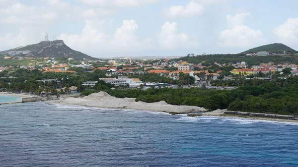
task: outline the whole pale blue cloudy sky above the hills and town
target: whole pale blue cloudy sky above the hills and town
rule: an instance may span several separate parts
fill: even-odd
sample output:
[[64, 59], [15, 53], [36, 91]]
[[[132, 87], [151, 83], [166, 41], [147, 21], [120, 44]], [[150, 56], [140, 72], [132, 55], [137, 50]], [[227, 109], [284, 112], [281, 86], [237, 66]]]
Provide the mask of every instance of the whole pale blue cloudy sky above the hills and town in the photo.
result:
[[93, 57], [298, 50], [298, 0], [0, 0], [0, 51], [64, 40]]

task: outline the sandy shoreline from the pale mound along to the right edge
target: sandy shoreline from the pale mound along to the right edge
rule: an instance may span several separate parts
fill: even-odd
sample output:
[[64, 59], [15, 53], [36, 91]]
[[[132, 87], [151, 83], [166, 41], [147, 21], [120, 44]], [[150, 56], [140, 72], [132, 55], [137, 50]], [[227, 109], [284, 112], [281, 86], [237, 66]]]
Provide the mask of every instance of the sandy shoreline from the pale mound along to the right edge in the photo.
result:
[[[170, 114], [187, 114], [187, 116], [216, 116], [216, 117], [237, 117], [245, 119], [255, 120], [268, 120], [268, 121], [279, 121], [279, 122], [298, 122], [296, 119], [289, 119], [293, 115], [279, 115], [279, 114], [264, 114], [264, 113], [251, 113], [250, 112], [235, 112], [226, 110], [216, 110], [206, 112], [204, 108], [195, 106], [174, 106], [165, 103], [164, 101], [157, 103], [145, 103], [135, 102], [134, 98], [116, 98], [112, 97], [106, 92], [94, 93], [84, 98], [61, 98], [60, 100], [51, 101], [47, 104], [60, 104], [60, 105], [76, 105], [85, 107], [98, 107], [98, 108], [110, 108], [110, 109], [133, 109], [133, 110], [144, 110], [144, 111], [156, 111], [166, 112]], [[195, 113], [202, 112], [202, 113]], [[226, 113], [225, 113], [226, 112]], [[232, 114], [233, 112], [237, 114]], [[241, 114], [239, 114], [241, 113]], [[264, 117], [261, 115], [269, 115]], [[289, 117], [279, 118], [279, 117]]]

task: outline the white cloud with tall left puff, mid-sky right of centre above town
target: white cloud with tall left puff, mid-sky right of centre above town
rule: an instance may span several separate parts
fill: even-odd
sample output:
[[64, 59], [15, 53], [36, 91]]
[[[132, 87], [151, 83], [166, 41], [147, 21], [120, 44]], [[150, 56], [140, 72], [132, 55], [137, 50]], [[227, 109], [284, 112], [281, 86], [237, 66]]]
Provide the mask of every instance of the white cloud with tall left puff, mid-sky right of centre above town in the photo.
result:
[[158, 34], [158, 44], [163, 49], [192, 48], [197, 47], [199, 43], [194, 37], [186, 33], [177, 33], [178, 26], [176, 22], [165, 22], [161, 26]]

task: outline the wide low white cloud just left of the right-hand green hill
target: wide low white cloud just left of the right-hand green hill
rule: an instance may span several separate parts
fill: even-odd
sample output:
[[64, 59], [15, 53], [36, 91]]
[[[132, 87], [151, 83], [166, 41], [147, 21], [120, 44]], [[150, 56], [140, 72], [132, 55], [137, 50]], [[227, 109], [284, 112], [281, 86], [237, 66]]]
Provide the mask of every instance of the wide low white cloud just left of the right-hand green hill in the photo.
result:
[[219, 36], [220, 47], [248, 48], [267, 43], [261, 30], [255, 30], [244, 25], [237, 25], [231, 29], [225, 29]]

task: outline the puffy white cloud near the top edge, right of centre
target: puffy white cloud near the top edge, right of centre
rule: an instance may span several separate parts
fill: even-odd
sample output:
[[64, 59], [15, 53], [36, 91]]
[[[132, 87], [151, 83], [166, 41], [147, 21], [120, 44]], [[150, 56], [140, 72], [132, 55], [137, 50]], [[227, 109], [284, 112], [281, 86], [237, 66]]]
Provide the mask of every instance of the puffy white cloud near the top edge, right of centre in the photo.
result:
[[166, 17], [193, 17], [202, 15], [204, 6], [194, 0], [189, 1], [185, 6], [173, 5], [163, 11]]

